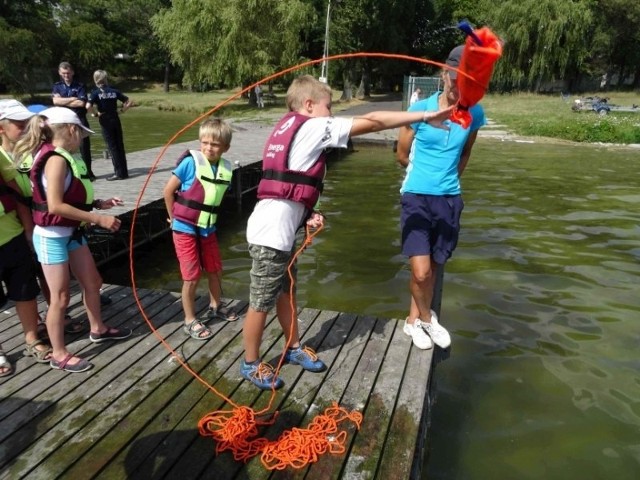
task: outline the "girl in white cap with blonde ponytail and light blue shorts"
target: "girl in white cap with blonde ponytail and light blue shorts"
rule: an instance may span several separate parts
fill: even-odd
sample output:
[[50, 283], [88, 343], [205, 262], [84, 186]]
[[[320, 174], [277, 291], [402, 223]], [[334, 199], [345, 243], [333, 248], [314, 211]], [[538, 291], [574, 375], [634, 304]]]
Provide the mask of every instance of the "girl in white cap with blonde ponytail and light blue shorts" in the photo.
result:
[[16, 158], [35, 152], [31, 169], [33, 185], [33, 245], [42, 264], [51, 291], [47, 311], [47, 331], [53, 347], [51, 367], [68, 372], [83, 372], [92, 367], [87, 360], [70, 353], [64, 342], [64, 316], [69, 305], [70, 272], [80, 282], [83, 301], [91, 325], [89, 338], [94, 343], [120, 340], [130, 329], [109, 328], [100, 313], [102, 278], [84, 236], [83, 225], [94, 223], [110, 232], [120, 228], [120, 220], [99, 215], [122, 205], [117, 197], [94, 200], [87, 167], [79, 155], [80, 144], [93, 133], [82, 125], [68, 108], [48, 108], [29, 122], [25, 136], [16, 145]]

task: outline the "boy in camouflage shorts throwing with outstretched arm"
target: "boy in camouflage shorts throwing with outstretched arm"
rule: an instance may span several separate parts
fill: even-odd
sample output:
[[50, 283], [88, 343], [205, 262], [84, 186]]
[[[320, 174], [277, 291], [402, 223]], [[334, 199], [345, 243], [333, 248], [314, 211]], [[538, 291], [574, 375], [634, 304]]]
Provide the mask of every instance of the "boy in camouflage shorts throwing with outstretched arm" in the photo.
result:
[[[442, 127], [442, 121], [452, 111], [449, 108], [438, 112], [371, 112], [354, 118], [332, 117], [331, 89], [310, 75], [292, 82], [287, 91], [287, 107], [289, 113], [267, 140], [259, 202], [247, 225], [252, 267], [240, 374], [264, 390], [284, 385], [273, 367], [261, 361], [259, 352], [267, 312], [274, 305], [289, 346], [285, 362], [312, 372], [326, 368], [311, 348], [300, 344], [297, 322], [292, 322], [297, 307], [295, 297], [290, 298], [287, 275], [298, 229], [304, 224], [311, 228], [324, 224], [324, 217], [314, 211], [314, 205], [322, 192], [325, 149], [347, 148], [350, 137], [418, 121]], [[295, 270], [293, 273], [295, 277]]]

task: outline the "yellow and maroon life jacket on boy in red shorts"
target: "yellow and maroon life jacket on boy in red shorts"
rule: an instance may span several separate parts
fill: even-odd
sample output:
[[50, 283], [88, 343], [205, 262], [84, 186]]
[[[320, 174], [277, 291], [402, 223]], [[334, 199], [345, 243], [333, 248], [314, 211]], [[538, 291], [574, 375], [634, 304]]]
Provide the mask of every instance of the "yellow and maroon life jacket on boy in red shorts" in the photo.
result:
[[171, 209], [174, 218], [190, 225], [208, 228], [216, 224], [218, 210], [233, 175], [231, 163], [221, 158], [218, 161], [215, 178], [211, 178], [211, 165], [202, 152], [186, 151], [176, 165], [186, 157], [192, 157], [195, 164], [195, 178], [184, 192], [176, 192]]

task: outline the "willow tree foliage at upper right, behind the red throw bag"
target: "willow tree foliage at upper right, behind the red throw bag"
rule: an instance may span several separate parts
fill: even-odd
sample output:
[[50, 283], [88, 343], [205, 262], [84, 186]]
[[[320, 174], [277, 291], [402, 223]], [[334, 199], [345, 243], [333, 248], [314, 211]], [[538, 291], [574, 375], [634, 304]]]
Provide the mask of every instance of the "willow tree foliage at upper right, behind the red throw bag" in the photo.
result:
[[543, 81], [578, 70], [589, 54], [590, 0], [509, 0], [493, 10], [492, 27], [505, 39], [494, 81], [538, 91]]

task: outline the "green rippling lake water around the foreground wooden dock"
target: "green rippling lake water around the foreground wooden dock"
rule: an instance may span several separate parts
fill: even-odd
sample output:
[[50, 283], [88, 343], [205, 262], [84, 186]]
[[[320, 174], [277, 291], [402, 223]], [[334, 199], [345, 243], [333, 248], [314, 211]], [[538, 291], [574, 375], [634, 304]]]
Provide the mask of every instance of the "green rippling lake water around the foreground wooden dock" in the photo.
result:
[[[479, 140], [446, 267], [429, 479], [638, 478], [639, 171], [629, 149]], [[402, 176], [388, 149], [331, 165], [300, 306], [406, 316]], [[229, 298], [248, 298], [247, 215], [220, 228]], [[138, 286], [180, 289], [170, 241], [139, 264]]]

